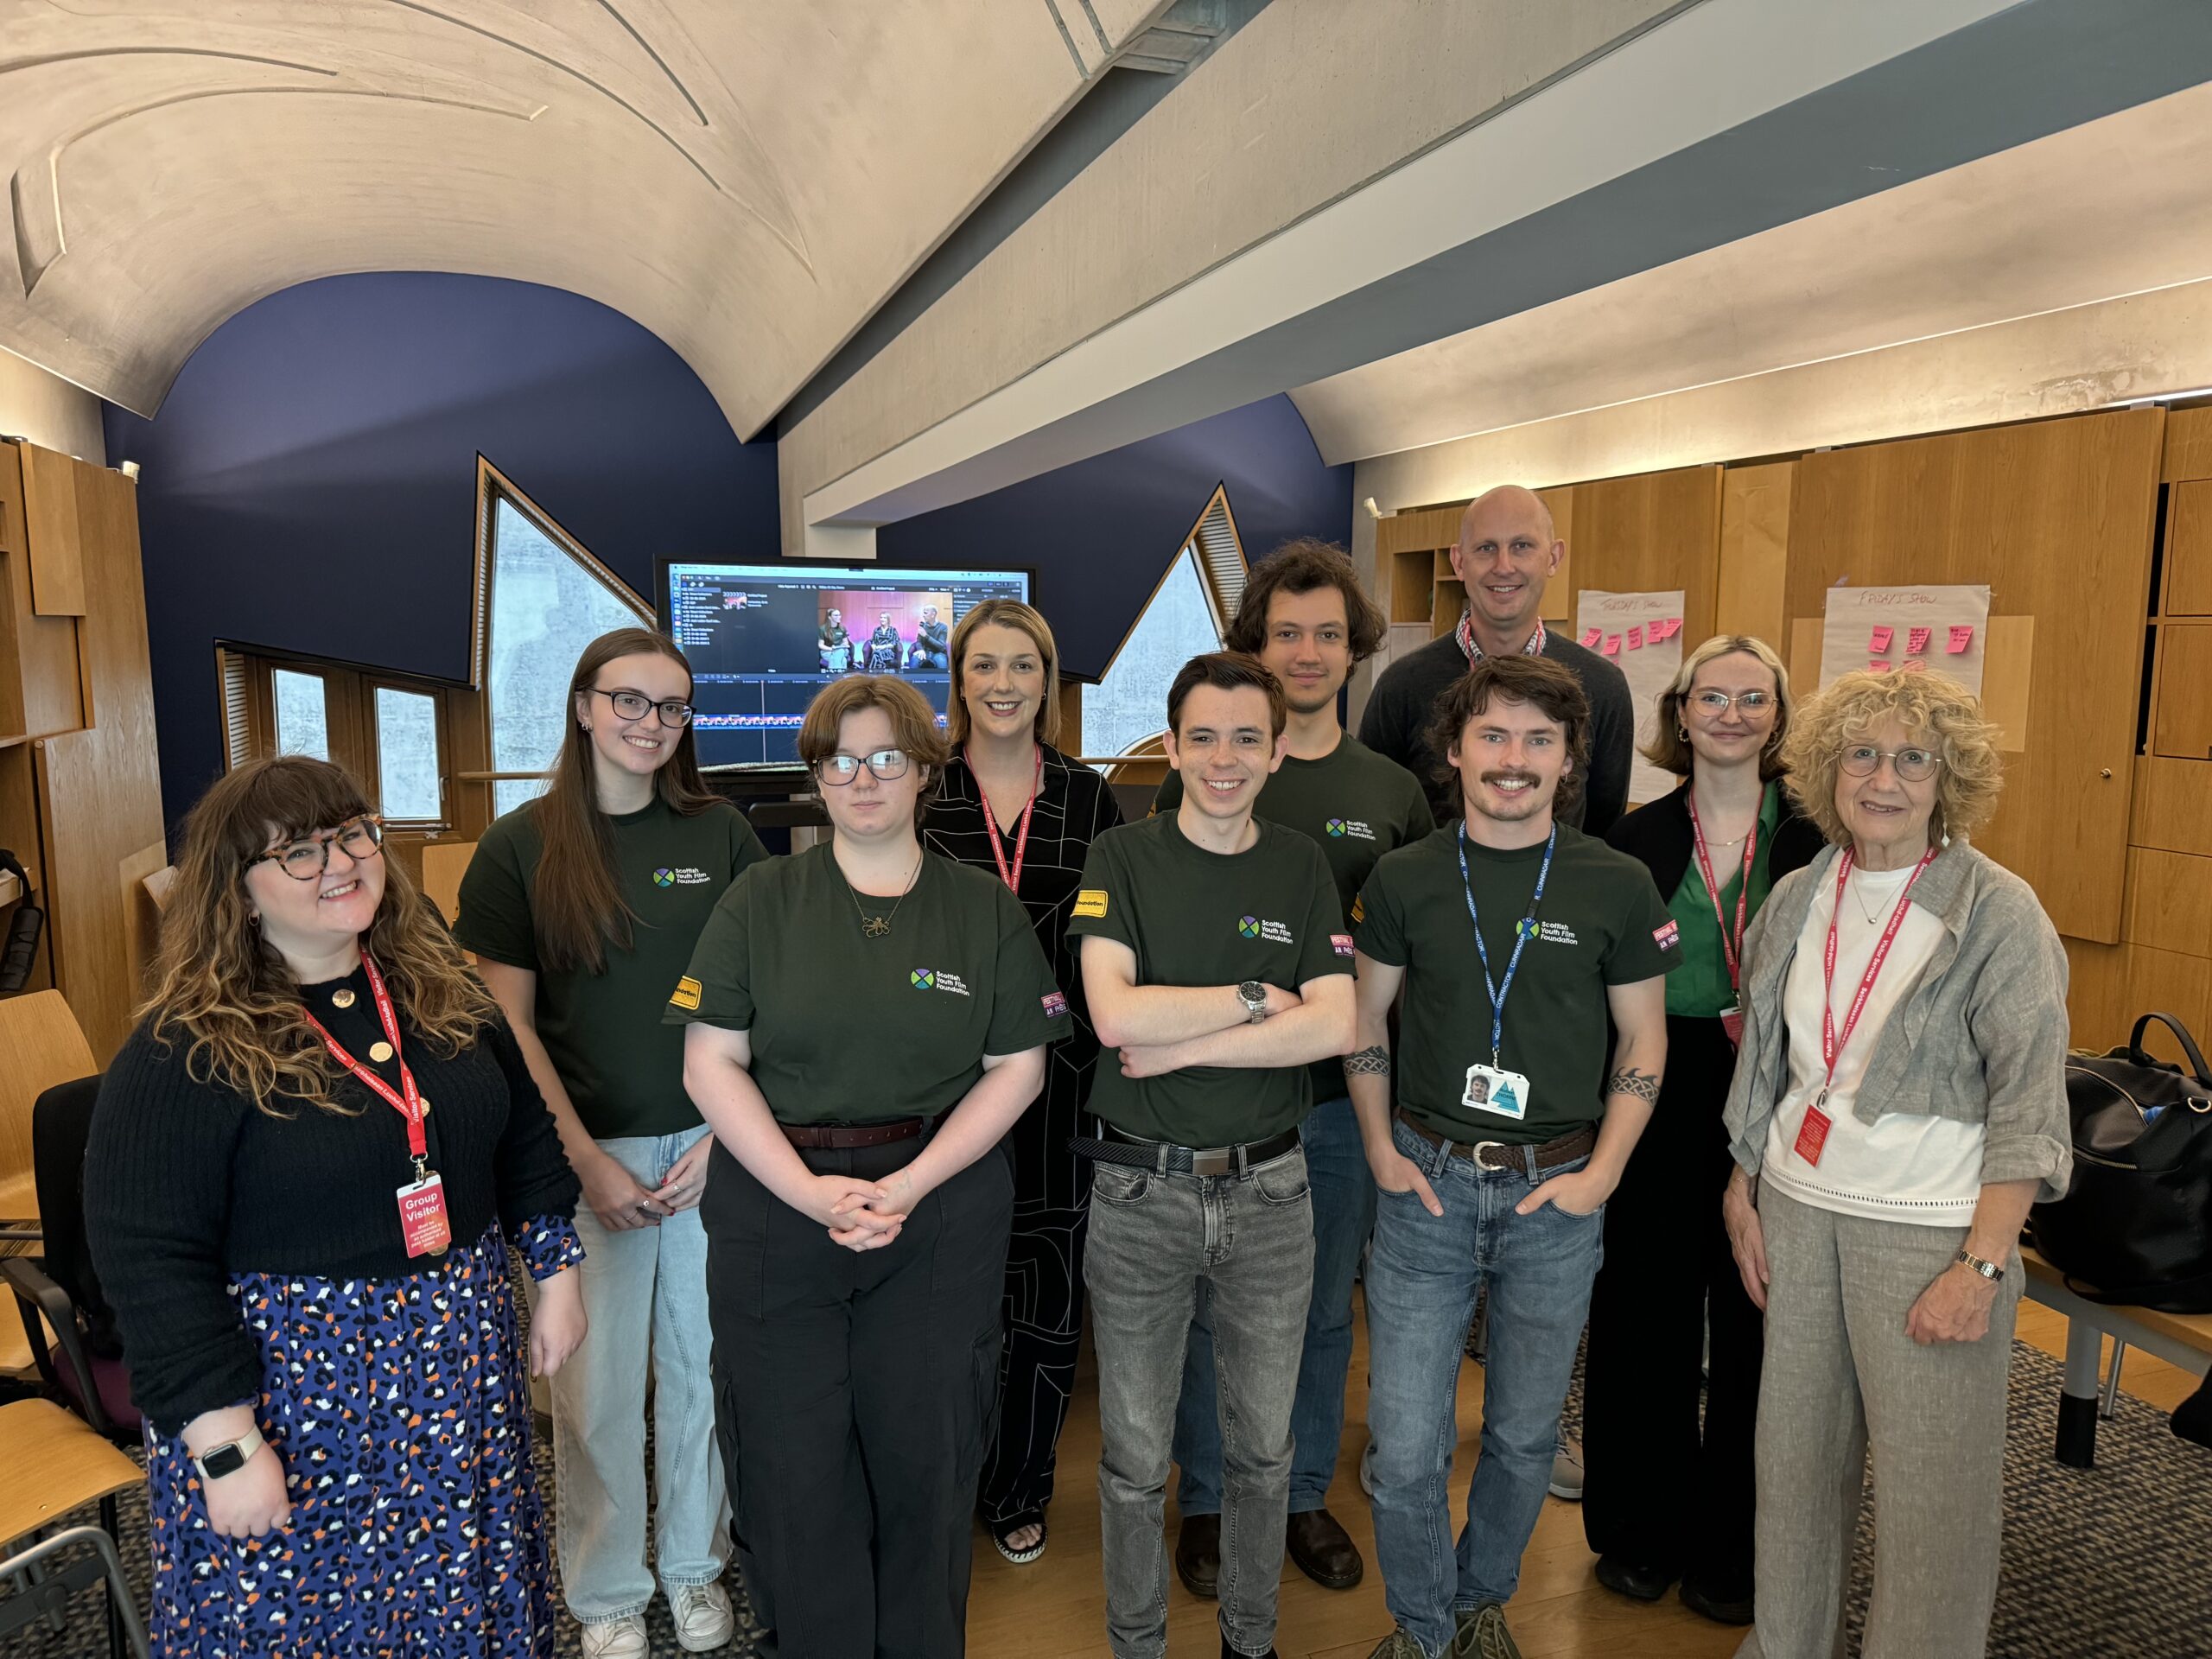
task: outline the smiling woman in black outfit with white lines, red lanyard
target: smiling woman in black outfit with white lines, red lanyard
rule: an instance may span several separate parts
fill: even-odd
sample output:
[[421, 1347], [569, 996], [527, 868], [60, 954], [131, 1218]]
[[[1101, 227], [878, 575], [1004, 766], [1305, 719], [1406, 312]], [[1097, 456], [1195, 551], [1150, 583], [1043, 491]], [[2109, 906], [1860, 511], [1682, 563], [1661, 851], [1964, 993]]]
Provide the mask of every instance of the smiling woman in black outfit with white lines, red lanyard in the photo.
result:
[[1022, 900], [1071, 1013], [1068, 1040], [1046, 1062], [1044, 1093], [1009, 1139], [1006, 1349], [998, 1433], [978, 1493], [1000, 1555], [1033, 1562], [1044, 1553], [1055, 1449], [1075, 1394], [1091, 1230], [1091, 1161], [1068, 1141], [1088, 1133], [1084, 1102], [1099, 1040], [1068, 949], [1068, 916], [1091, 843], [1121, 823], [1121, 807], [1102, 774], [1053, 748], [1060, 650], [1042, 615], [1020, 599], [984, 599], [960, 617], [949, 650], [951, 759], [922, 838]]

